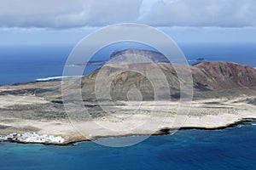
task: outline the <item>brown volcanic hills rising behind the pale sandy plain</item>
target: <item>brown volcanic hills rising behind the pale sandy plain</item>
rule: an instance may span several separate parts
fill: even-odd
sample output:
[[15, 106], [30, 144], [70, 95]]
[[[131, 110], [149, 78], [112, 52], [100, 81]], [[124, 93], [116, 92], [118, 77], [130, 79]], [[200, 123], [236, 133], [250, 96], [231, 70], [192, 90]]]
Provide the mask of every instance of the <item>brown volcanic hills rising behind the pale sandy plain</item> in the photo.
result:
[[[180, 95], [179, 79], [170, 63], [158, 63], [160, 69], [166, 75], [172, 98], [178, 99]], [[106, 75], [111, 77], [118, 65], [106, 66]], [[152, 70], [150, 64], [132, 64], [130, 67], [139, 67], [142, 70]], [[183, 65], [175, 65], [176, 69], [183, 69]], [[256, 69], [247, 65], [238, 65], [232, 62], [201, 62], [190, 66], [193, 77], [195, 99], [234, 97], [241, 95], [255, 95]], [[84, 100], [95, 100], [94, 83], [99, 70], [84, 77], [82, 89]], [[157, 78], [158, 75], [153, 77]], [[112, 78], [111, 96], [113, 99], [126, 99], [126, 94], [131, 88], [137, 88], [143, 94], [144, 100], [154, 99], [154, 88], [147, 77], [133, 72], [124, 71]]]

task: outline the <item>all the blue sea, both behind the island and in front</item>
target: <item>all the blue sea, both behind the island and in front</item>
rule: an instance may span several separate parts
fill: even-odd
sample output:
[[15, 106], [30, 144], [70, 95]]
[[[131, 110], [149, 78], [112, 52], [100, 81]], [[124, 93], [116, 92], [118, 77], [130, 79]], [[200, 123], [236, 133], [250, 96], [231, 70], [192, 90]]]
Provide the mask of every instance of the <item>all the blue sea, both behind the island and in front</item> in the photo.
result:
[[[60, 77], [73, 45], [0, 48], [0, 85]], [[102, 50], [107, 59], [116, 47]], [[120, 49], [124, 47], [119, 47]], [[125, 48], [147, 48], [127, 45]], [[256, 67], [256, 44], [180, 44], [187, 59], [229, 60]], [[98, 66], [91, 66], [84, 74]], [[135, 137], [127, 137], [135, 138]], [[256, 169], [256, 126], [183, 130], [140, 144], [110, 148], [93, 142], [76, 146], [0, 143], [0, 169]]]

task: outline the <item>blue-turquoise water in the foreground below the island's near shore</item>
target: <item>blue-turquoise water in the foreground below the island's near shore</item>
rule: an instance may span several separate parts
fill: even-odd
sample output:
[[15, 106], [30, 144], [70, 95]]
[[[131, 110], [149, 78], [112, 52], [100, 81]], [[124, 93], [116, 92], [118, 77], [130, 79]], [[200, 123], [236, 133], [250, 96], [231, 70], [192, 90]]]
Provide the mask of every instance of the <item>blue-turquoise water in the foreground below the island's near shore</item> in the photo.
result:
[[[131, 137], [127, 137], [131, 138]], [[3, 169], [255, 169], [256, 126], [182, 130], [125, 148], [0, 144]]]

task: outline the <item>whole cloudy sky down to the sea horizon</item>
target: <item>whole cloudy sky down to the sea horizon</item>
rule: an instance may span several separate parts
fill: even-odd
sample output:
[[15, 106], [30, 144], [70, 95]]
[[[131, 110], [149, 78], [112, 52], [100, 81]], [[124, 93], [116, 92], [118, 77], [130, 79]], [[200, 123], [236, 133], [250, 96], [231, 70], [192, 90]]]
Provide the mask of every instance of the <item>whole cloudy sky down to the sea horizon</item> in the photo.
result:
[[255, 0], [3, 0], [0, 43], [77, 42], [127, 22], [177, 41], [255, 42], [255, 16]]

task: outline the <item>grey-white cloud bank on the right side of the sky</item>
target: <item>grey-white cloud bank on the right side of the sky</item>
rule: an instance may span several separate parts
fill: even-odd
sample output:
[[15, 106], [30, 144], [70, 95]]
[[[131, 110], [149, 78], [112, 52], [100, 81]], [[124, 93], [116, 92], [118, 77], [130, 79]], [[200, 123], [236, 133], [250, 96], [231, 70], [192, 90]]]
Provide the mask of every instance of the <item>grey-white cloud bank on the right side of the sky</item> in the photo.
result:
[[153, 26], [256, 26], [255, 0], [159, 0], [141, 21]]

